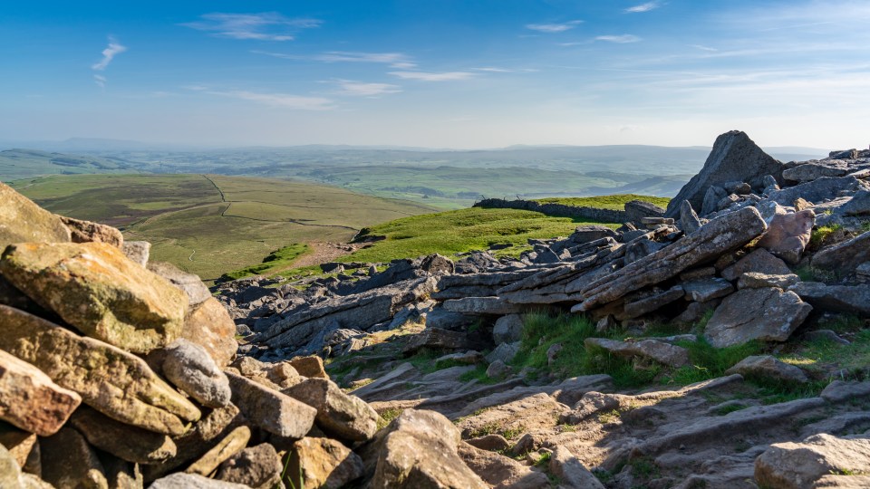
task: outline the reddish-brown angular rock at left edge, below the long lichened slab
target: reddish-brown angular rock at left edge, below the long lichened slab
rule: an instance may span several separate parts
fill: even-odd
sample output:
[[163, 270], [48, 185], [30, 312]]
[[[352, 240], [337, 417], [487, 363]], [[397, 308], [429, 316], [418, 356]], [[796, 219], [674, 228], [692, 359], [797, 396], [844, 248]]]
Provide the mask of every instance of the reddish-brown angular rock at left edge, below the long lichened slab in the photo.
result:
[[39, 436], [63, 427], [82, 402], [40, 369], [0, 350], [0, 419]]

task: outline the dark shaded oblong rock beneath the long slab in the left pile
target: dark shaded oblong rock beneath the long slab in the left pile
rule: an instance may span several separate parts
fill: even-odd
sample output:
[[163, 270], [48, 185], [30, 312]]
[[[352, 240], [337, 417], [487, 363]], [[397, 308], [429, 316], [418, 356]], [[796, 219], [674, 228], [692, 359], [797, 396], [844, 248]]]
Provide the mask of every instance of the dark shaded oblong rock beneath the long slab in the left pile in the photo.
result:
[[76, 410], [70, 424], [92, 446], [128, 462], [157, 464], [177, 453], [169, 436], [125, 425], [92, 408]]

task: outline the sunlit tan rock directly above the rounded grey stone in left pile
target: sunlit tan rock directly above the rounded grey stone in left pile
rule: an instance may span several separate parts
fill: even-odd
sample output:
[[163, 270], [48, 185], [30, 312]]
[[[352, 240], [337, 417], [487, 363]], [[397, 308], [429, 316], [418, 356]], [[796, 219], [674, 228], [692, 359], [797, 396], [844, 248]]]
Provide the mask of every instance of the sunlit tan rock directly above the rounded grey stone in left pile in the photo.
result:
[[184, 319], [181, 338], [206, 349], [221, 369], [236, 357], [238, 350], [236, 323], [214, 297], [190, 309]]

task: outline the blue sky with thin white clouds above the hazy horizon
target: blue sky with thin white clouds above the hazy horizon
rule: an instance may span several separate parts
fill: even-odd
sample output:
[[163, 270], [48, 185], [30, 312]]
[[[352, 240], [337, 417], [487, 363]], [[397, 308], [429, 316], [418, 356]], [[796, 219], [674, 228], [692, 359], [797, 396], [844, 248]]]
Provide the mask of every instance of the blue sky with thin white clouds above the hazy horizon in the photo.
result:
[[7, 2], [2, 140], [870, 143], [870, 2]]

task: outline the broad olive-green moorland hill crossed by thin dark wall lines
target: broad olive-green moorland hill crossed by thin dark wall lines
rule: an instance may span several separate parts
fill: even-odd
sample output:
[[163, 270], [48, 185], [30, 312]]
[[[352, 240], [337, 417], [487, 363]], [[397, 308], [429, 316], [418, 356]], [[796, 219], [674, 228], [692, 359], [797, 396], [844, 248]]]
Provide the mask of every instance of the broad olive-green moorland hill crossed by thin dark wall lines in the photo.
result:
[[[89, 175], [12, 182], [52, 212], [150, 241], [154, 260], [204, 280], [291, 245], [347, 242], [364, 226], [433, 209], [308, 182], [210, 175]], [[296, 248], [298, 250], [298, 247]]]

